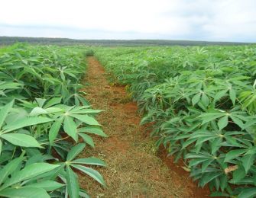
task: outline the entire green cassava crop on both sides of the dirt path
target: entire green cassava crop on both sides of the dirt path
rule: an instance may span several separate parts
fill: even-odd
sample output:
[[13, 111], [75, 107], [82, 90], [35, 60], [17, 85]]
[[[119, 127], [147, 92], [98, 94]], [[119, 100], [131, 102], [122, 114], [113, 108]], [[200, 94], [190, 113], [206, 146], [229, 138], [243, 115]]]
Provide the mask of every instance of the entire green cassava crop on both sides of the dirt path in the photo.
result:
[[93, 54], [109, 85], [125, 85], [137, 102], [157, 147], [200, 187], [256, 196], [256, 46], [18, 43], [0, 48], [1, 197], [89, 197], [80, 175], [106, 186], [96, 171], [105, 162], [79, 158], [95, 146], [92, 136], [107, 137], [95, 118], [101, 110], [81, 91]]

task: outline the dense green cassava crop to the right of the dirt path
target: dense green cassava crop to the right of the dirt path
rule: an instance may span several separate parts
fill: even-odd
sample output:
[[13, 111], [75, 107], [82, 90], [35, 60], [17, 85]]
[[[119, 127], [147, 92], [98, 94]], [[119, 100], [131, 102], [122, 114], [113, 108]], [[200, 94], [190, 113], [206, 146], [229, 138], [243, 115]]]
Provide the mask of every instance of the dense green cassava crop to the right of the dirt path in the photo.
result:
[[212, 196], [256, 196], [256, 47], [96, 48], [151, 135]]

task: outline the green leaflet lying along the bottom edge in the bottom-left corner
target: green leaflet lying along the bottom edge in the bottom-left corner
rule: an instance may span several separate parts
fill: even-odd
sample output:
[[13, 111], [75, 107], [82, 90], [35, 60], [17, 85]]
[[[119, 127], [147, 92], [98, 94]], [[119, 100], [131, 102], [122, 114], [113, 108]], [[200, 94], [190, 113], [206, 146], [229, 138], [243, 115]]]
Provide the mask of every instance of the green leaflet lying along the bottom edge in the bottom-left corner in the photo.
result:
[[5, 190], [0, 190], [0, 196], [10, 198], [50, 198], [46, 190], [38, 187], [10, 187]]

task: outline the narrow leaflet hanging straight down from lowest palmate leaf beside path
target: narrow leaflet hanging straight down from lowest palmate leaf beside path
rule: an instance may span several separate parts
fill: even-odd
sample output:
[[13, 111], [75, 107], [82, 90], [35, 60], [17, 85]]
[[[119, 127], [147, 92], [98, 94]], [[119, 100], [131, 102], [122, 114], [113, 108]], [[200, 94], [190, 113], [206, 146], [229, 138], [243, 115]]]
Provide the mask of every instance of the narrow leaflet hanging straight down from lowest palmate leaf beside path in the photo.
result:
[[66, 189], [70, 198], [79, 197], [78, 177], [74, 171], [72, 171], [70, 166], [66, 167]]

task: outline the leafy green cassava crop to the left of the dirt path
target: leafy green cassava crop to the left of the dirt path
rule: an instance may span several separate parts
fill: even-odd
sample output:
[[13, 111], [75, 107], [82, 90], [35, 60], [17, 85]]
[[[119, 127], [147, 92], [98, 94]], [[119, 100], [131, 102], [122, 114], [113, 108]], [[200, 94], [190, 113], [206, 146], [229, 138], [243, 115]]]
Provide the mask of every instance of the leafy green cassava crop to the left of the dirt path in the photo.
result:
[[86, 48], [30, 46], [0, 48], [0, 196], [88, 197], [77, 173], [105, 181], [77, 158], [91, 135], [105, 136], [79, 91]]

